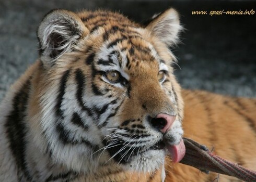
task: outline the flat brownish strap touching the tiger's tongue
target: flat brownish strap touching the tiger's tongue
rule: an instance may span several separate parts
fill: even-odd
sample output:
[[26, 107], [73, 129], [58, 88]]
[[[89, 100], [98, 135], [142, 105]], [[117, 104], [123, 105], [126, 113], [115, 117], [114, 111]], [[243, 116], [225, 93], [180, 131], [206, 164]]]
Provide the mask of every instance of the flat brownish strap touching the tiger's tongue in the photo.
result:
[[208, 174], [209, 171], [212, 171], [234, 176], [244, 181], [256, 181], [255, 171], [247, 170], [245, 167], [214, 155], [207, 147], [192, 139], [183, 138], [183, 140], [186, 147], [186, 153], [180, 163], [196, 167], [206, 174]]

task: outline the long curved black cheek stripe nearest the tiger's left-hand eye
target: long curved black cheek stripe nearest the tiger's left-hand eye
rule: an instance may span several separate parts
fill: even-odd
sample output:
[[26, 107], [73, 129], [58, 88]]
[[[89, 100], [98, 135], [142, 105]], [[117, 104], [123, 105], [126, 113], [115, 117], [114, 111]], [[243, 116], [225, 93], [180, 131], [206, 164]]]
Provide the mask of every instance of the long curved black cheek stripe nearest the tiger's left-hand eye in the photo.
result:
[[92, 116], [91, 110], [84, 105], [84, 101], [83, 101], [83, 93], [86, 92], [85, 90], [86, 77], [83, 74], [82, 70], [80, 69], [76, 70], [75, 75], [76, 75], [76, 82], [77, 82], [76, 99], [78, 100], [80, 107], [82, 107], [83, 110], [87, 111], [89, 116]]

